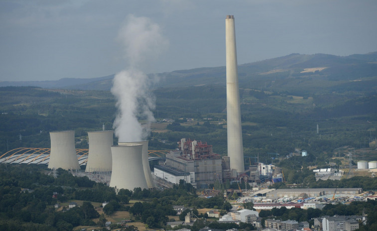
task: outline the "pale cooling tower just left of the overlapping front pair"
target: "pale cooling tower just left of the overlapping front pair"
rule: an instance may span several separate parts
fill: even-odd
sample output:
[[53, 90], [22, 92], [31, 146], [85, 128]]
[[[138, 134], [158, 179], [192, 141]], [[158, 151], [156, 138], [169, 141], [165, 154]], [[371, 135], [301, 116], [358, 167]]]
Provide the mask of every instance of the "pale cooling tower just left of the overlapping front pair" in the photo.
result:
[[114, 131], [88, 132], [89, 155], [85, 172], [108, 172], [112, 170], [111, 146]]

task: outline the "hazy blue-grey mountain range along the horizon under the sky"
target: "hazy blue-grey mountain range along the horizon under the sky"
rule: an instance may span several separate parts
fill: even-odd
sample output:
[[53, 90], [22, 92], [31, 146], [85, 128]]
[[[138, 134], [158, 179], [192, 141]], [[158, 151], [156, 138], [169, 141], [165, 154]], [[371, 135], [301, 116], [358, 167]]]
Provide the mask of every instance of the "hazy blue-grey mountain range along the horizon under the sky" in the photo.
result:
[[[225, 66], [221, 66], [176, 70], [150, 75], [160, 78], [157, 87], [180, 87], [203, 84], [225, 85], [225, 73]], [[349, 56], [293, 53], [239, 65], [241, 86], [252, 89], [272, 89], [273, 91], [278, 89], [278, 91], [291, 92], [312, 86], [313, 88], [309, 90], [311, 92], [326, 92], [330, 89], [323, 89], [323, 86], [332, 87], [361, 80], [369, 81], [366, 85], [371, 86], [376, 85], [376, 82], [370, 82], [371, 77], [374, 76], [377, 76], [377, 52]], [[64, 78], [56, 81], [2, 81], [0, 86], [110, 90], [113, 77], [114, 75], [99, 78]], [[346, 87], [349, 87], [349, 85]], [[360, 84], [356, 85], [360, 87]], [[307, 89], [305, 92], [307, 92]]]

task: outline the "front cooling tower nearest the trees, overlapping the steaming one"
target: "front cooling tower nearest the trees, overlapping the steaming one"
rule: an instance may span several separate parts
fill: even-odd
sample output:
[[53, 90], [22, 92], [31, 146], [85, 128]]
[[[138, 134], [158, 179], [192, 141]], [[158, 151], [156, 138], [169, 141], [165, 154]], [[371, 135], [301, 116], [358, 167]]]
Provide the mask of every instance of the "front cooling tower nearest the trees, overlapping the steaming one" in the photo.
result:
[[142, 168], [142, 145], [111, 146], [113, 172], [110, 187], [148, 189]]

